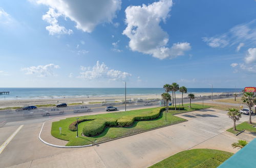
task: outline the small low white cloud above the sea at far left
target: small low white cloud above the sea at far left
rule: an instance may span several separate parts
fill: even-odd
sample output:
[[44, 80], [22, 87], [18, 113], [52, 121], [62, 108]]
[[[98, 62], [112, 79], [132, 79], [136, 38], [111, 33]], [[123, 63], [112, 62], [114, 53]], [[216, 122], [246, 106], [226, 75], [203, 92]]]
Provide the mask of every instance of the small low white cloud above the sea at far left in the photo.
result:
[[22, 68], [22, 71], [26, 71], [25, 74], [27, 75], [35, 74], [39, 77], [45, 77], [45, 76], [56, 76], [56, 74], [53, 73], [53, 70], [58, 68], [60, 68], [58, 65], [48, 64], [48, 65], [38, 65], [38, 66]]

